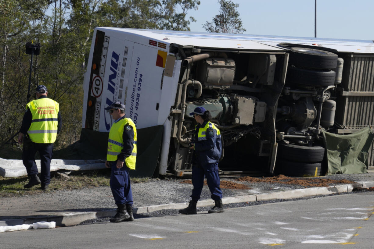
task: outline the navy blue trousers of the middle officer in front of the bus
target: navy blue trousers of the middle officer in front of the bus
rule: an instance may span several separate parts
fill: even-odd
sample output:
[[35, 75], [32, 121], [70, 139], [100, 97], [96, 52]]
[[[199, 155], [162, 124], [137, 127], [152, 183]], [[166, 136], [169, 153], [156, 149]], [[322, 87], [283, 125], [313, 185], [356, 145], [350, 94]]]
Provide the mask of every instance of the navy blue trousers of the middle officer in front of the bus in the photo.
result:
[[129, 168], [126, 163], [123, 163], [123, 167], [120, 169], [117, 169], [116, 165], [117, 161], [112, 162], [109, 182], [114, 201], [117, 205], [132, 205], [134, 202], [132, 201]]

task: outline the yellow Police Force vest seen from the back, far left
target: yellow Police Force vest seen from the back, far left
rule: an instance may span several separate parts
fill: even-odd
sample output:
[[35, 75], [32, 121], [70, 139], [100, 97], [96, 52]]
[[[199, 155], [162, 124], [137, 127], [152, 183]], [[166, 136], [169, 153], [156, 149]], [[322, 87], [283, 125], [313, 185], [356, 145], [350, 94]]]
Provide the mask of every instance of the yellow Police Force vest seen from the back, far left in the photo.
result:
[[31, 141], [49, 144], [56, 141], [59, 104], [53, 99], [41, 98], [27, 103], [33, 115], [27, 133]]

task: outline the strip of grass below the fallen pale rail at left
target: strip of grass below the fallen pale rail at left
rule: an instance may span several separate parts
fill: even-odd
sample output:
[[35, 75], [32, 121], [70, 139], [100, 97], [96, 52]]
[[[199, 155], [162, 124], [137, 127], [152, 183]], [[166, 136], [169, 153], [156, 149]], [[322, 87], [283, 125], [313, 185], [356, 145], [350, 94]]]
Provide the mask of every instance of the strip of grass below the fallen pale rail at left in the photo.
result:
[[[130, 178], [131, 183], [147, 182], [148, 178]], [[109, 187], [110, 169], [93, 170], [89, 172], [74, 172], [64, 177], [57, 172], [51, 172], [51, 179], [47, 191], [40, 190], [40, 185], [30, 189], [24, 188], [27, 176], [3, 177], [0, 176], [0, 197], [19, 197], [33, 194], [48, 193], [61, 190], [76, 190], [82, 188]]]

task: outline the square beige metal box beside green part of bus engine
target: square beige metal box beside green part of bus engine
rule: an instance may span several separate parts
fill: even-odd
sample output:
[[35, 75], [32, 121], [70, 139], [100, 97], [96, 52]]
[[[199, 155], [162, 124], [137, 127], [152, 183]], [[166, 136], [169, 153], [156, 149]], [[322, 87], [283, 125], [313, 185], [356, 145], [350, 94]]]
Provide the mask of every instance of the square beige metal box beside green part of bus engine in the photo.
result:
[[234, 124], [253, 124], [256, 101], [253, 98], [236, 96]]

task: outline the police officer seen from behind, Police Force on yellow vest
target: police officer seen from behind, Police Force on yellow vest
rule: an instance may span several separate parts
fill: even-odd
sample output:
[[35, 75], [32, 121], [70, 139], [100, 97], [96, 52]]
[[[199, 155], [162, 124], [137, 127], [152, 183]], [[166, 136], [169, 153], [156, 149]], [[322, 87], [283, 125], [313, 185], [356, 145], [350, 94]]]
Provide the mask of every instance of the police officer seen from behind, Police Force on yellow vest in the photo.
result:
[[[25, 188], [41, 184], [42, 190], [47, 190], [50, 183], [50, 161], [52, 160], [53, 143], [61, 131], [62, 119], [59, 104], [47, 98], [47, 87], [36, 87], [36, 99], [27, 103], [27, 111], [22, 119], [18, 142], [24, 143], [22, 162], [29, 177]], [[35, 154], [40, 154], [40, 179], [35, 163]]]

